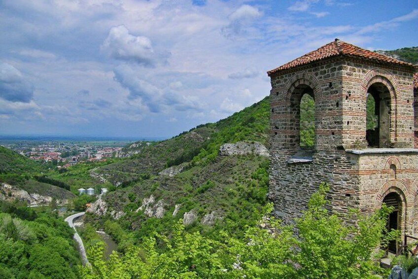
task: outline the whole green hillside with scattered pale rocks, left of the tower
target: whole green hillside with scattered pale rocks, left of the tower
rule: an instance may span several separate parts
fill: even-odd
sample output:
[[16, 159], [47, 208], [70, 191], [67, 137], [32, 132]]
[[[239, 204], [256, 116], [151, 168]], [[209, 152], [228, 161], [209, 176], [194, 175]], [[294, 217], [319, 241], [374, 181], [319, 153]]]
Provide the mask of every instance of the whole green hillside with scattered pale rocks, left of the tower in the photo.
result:
[[[256, 142], [268, 145], [268, 123], [266, 97], [224, 120], [200, 125], [143, 148], [129, 159], [96, 168], [94, 175], [102, 175], [117, 188], [98, 200], [89, 209], [95, 214], [86, 218], [112, 234], [106, 220], [120, 217], [117, 224], [133, 234], [134, 242], [151, 229], [170, 232], [180, 218], [187, 219], [191, 231], [216, 235], [222, 229], [243, 236], [246, 226], [260, 218], [267, 200], [268, 157], [257, 155], [263, 147]], [[250, 152], [219, 154], [222, 145], [237, 142]]]

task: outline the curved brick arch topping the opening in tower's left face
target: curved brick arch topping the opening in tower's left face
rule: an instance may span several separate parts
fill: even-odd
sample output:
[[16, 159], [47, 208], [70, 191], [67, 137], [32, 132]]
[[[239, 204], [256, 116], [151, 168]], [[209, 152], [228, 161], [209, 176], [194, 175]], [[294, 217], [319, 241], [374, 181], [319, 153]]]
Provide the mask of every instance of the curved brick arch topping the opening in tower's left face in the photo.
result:
[[317, 101], [322, 97], [321, 86], [319, 81], [316, 80], [314, 75], [310, 73], [297, 73], [294, 74], [284, 86], [284, 101], [289, 101], [290, 96], [298, 85], [306, 84], [309, 85], [312, 90], [314, 90], [314, 99]]

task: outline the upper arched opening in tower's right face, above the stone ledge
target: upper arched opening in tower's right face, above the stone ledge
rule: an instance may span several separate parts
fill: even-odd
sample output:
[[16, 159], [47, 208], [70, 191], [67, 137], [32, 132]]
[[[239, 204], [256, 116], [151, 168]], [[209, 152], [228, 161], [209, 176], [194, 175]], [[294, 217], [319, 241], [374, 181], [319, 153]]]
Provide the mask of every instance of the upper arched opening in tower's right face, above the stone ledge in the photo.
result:
[[366, 140], [369, 147], [390, 147], [391, 100], [389, 89], [381, 82], [367, 90]]

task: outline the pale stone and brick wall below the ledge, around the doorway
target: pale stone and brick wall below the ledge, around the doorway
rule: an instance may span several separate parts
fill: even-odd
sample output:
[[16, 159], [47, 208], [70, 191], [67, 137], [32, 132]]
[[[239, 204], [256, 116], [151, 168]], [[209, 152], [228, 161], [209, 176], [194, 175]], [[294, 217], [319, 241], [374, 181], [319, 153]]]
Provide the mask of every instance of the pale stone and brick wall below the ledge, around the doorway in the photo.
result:
[[353, 159], [351, 173], [359, 177], [361, 212], [374, 212], [387, 194], [396, 192], [402, 200], [400, 228], [418, 235], [418, 154], [365, 154]]

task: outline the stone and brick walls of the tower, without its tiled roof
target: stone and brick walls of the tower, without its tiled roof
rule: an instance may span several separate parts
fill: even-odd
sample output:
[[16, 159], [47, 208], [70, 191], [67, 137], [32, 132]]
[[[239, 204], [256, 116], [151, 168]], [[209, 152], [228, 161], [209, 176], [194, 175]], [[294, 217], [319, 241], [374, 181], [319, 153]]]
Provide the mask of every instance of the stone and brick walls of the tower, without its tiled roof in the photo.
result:
[[[367, 147], [366, 98], [368, 88], [375, 82], [383, 83], [391, 94], [390, 147], [413, 148], [412, 73], [340, 57], [271, 76], [269, 198], [274, 201], [275, 215], [285, 224], [301, 215], [321, 182], [330, 184], [328, 198], [332, 209], [340, 213], [347, 213], [349, 208], [375, 210], [383, 200], [380, 204], [376, 201], [377, 193], [391, 185], [391, 181], [417, 187], [411, 181], [417, 177], [418, 156], [347, 152]], [[300, 152], [299, 113], [295, 109], [304, 93], [315, 101], [315, 145], [310, 156]], [[292, 160], [301, 154], [307, 158]], [[393, 173], [383, 169], [390, 157], [403, 161], [405, 166], [405, 170], [397, 170], [395, 180], [390, 178]], [[411, 191], [417, 193], [415, 188]], [[409, 212], [405, 219], [408, 232], [413, 231], [417, 215], [410, 201], [416, 202], [415, 194], [411, 197], [405, 211]]]

